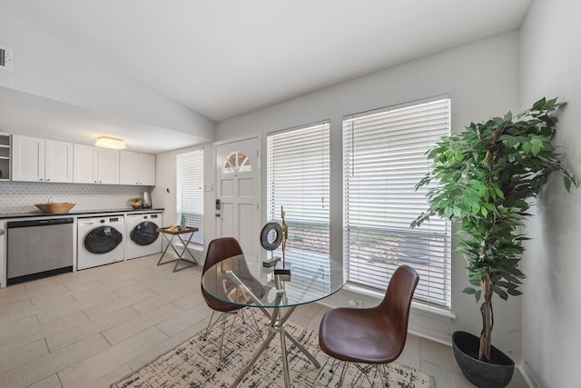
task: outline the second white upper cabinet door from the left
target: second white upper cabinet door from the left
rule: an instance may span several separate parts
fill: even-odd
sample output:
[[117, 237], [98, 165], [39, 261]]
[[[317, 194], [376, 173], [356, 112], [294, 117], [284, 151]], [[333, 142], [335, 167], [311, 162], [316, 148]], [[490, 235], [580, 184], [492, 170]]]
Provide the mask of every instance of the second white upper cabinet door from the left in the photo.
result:
[[45, 140], [44, 152], [44, 180], [73, 182], [73, 144]]

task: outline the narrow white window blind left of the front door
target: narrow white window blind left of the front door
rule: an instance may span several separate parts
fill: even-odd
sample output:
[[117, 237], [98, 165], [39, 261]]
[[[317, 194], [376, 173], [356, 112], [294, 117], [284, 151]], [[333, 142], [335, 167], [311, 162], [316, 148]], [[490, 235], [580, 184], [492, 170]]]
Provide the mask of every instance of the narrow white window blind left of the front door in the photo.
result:
[[203, 244], [203, 149], [176, 156], [176, 224], [199, 229], [192, 243]]

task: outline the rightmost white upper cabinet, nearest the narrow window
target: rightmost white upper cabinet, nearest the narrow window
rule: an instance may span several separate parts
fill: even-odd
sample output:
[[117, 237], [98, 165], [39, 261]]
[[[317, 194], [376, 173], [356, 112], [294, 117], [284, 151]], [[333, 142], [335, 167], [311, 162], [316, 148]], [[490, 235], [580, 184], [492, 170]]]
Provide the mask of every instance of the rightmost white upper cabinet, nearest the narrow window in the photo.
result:
[[155, 155], [121, 151], [120, 184], [155, 185]]

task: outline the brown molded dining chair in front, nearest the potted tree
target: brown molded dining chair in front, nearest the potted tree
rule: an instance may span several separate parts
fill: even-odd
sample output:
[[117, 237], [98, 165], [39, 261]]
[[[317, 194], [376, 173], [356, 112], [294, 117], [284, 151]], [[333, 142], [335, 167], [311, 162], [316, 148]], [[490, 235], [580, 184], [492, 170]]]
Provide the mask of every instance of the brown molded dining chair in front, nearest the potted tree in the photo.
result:
[[[391, 276], [388, 290], [381, 303], [371, 308], [340, 307], [323, 315], [319, 327], [320, 349], [344, 362], [339, 386], [343, 383], [348, 363], [354, 363], [360, 373], [354, 382], [369, 372], [379, 373], [382, 383], [388, 384], [388, 363], [403, 351], [408, 334], [409, 307], [419, 282], [419, 274], [409, 265], [401, 265]], [[367, 364], [365, 367], [359, 363]]]

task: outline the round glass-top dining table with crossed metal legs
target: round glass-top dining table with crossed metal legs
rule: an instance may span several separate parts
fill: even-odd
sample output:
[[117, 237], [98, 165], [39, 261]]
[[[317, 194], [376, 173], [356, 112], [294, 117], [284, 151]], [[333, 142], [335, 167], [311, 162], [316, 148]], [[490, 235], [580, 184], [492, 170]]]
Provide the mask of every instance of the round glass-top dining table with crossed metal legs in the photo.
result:
[[[278, 254], [281, 256], [281, 254]], [[287, 339], [317, 368], [320, 363], [285, 329], [291, 314], [301, 304], [313, 303], [338, 292], [347, 281], [345, 267], [326, 254], [287, 250], [285, 264], [291, 274], [277, 274], [277, 254], [261, 251], [239, 254], [213, 265], [202, 276], [202, 287], [223, 302], [259, 308], [270, 319], [269, 333], [261, 347], [237, 376], [232, 387], [241, 382], [261, 353], [277, 336], [281, 341], [284, 386], [289, 387]], [[278, 263], [281, 265], [281, 262]]]

